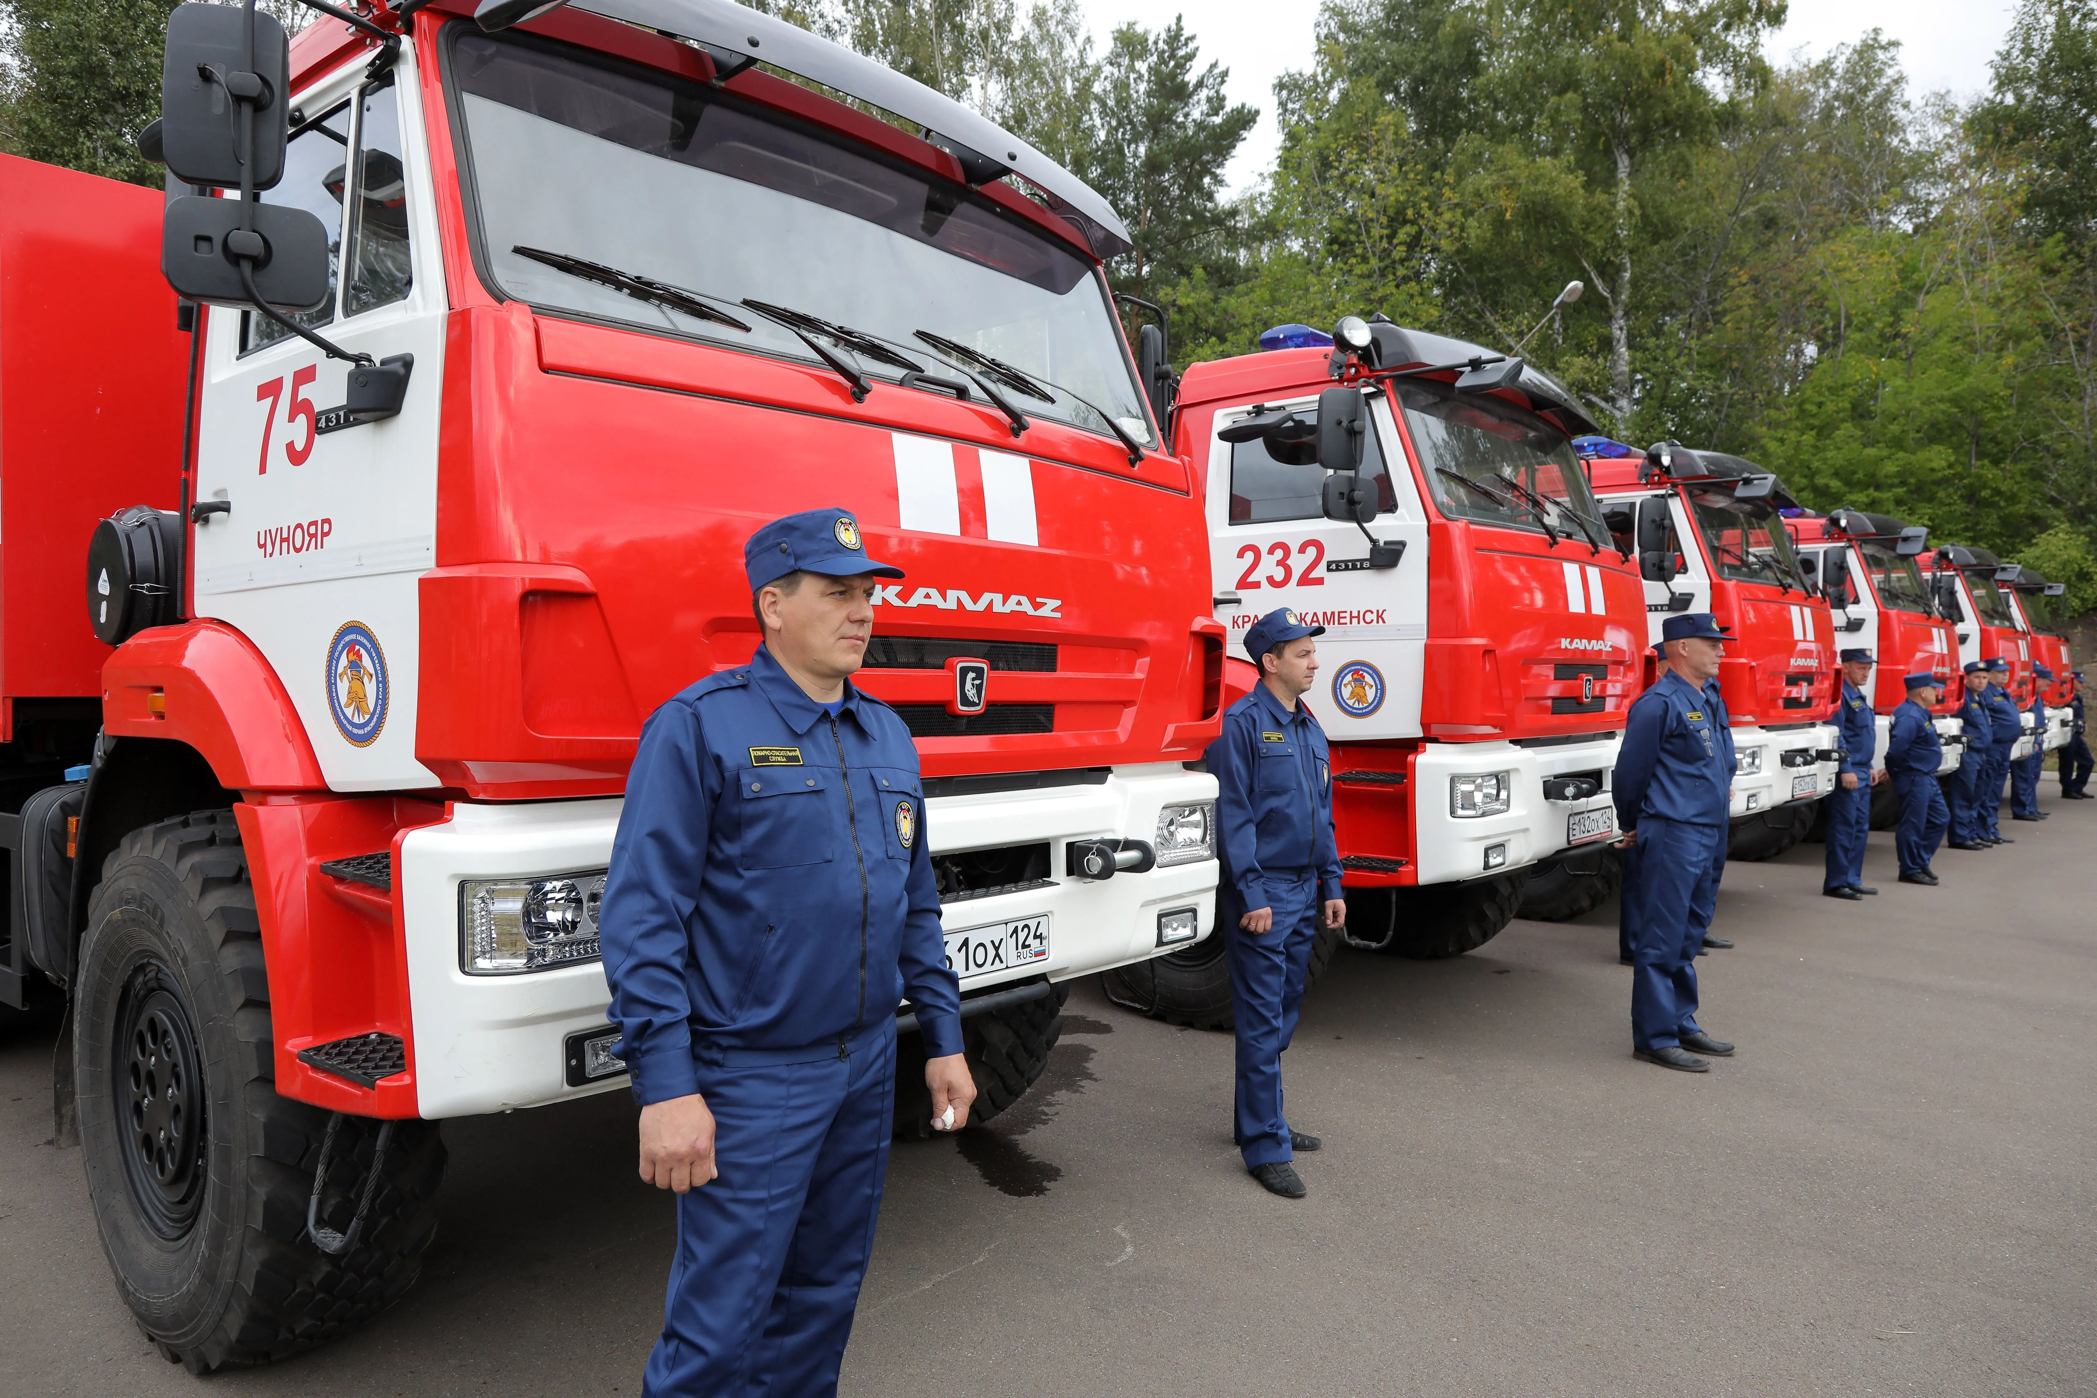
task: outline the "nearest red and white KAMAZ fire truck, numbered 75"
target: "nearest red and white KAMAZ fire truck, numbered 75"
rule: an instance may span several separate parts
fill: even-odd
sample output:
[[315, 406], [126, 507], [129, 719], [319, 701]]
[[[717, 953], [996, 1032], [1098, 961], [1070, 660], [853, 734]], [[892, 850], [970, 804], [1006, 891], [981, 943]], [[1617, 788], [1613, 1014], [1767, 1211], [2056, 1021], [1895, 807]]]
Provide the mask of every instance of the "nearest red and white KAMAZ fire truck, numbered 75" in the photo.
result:
[[862, 681], [918, 738], [979, 1115], [1072, 977], [1208, 929], [1227, 639], [1126, 233], [1032, 147], [728, 0], [289, 54], [250, 15], [174, 10], [143, 143], [229, 197], [0, 157], [0, 996], [67, 998], [105, 1251], [197, 1371], [413, 1281], [440, 1119], [625, 1086], [621, 790], [751, 656], [757, 524], [847, 505], [910, 574]]

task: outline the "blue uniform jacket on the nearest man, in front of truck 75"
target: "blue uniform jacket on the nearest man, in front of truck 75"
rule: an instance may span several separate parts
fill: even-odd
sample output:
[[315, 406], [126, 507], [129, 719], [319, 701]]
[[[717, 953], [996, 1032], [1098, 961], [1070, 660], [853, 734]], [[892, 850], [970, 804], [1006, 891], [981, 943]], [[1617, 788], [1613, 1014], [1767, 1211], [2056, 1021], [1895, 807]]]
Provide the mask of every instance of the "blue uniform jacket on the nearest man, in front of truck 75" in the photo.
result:
[[904, 996], [960, 1052], [910, 731], [851, 683], [833, 719], [761, 648], [642, 729], [598, 924], [642, 1105], [698, 1090], [694, 1050], [843, 1052]]

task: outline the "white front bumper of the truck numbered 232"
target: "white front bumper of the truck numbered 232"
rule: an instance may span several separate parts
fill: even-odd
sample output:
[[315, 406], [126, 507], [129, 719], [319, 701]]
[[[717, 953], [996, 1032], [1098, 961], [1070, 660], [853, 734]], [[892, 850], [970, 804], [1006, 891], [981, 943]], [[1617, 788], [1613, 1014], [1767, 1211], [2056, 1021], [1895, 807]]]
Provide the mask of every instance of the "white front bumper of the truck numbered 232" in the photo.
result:
[[[1420, 859], [1420, 882], [1457, 882], [1483, 878], [1548, 859], [1566, 849], [1573, 815], [1610, 811], [1608, 830], [1617, 817], [1610, 807], [1610, 771], [1617, 765], [1619, 734], [1596, 734], [1581, 742], [1552, 746], [1516, 746], [1512, 742], [1430, 742], [1413, 761], [1413, 853]], [[1512, 799], [1504, 815], [1457, 820], [1449, 813], [1449, 780], [1460, 773], [1506, 771]], [[1543, 794], [1548, 778], [1598, 773], [1602, 788], [1581, 801], [1552, 801]], [[1604, 843], [1592, 836], [1585, 843]], [[1504, 847], [1501, 861], [1489, 861]]]

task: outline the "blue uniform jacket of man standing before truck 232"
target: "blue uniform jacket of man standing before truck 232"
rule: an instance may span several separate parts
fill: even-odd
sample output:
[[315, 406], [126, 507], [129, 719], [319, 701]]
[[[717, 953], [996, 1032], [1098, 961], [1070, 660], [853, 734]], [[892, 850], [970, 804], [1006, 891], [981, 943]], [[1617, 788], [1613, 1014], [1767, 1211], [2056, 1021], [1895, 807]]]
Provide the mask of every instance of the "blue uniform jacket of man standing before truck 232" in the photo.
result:
[[1340, 843], [1332, 834], [1332, 748], [1325, 729], [1260, 683], [1223, 715], [1208, 746], [1223, 836], [1223, 876], [1246, 910], [1271, 908], [1267, 870], [1311, 870], [1321, 899], [1340, 897]]

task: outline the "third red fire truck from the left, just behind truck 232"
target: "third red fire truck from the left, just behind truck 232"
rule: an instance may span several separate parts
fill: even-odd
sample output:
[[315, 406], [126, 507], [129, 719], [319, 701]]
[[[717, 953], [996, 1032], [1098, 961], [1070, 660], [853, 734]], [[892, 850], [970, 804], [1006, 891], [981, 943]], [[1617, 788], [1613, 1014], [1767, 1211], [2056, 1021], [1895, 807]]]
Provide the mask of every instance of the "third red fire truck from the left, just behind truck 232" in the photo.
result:
[[1791, 849], [1841, 761], [1829, 604], [1785, 528], [1797, 501], [1753, 461], [1678, 442], [1640, 453], [1590, 440], [1581, 455], [1610, 530], [1638, 553], [1650, 641], [1676, 612], [1713, 612], [1732, 629], [1720, 664], [1738, 755], [1732, 855]]

